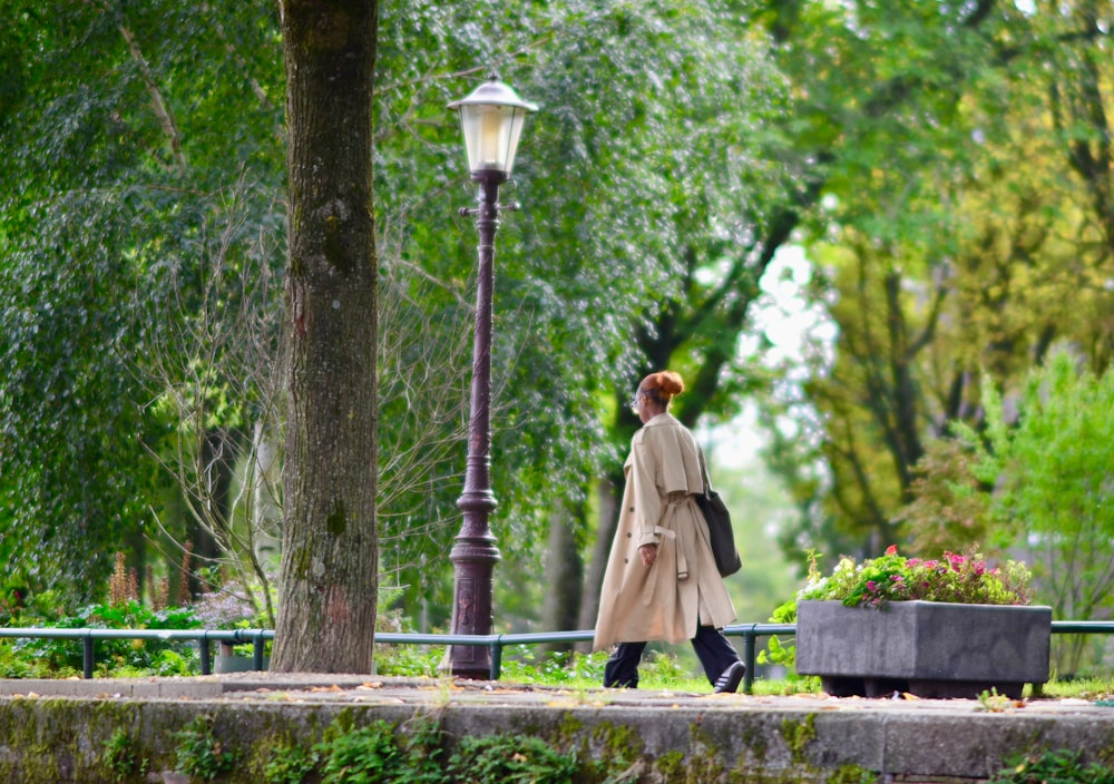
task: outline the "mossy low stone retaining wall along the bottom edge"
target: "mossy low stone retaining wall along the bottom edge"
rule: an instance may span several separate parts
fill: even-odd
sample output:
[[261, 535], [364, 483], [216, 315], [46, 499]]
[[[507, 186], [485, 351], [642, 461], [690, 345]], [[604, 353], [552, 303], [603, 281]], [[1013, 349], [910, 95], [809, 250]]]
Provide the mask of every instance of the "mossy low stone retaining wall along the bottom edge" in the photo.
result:
[[[106, 744], [125, 731], [150, 763], [148, 781], [185, 782], [172, 772], [177, 733], [197, 716], [237, 764], [217, 781], [261, 782], [277, 746], [311, 746], [330, 726], [402, 723], [436, 716], [449, 743], [491, 734], [528, 734], [580, 758], [629, 762], [634, 782], [977, 782], [1012, 755], [1039, 748], [1082, 749], [1114, 762], [1114, 710], [980, 713], [879, 700], [765, 702], [760, 698], [649, 705], [593, 703], [564, 696], [529, 704], [453, 704], [451, 695], [423, 704], [315, 700], [286, 694], [253, 699], [118, 699], [0, 697], [0, 781], [23, 784], [113, 782], [101, 762]], [[883, 700], [885, 702], [885, 700]], [[941, 703], [942, 704], [942, 703]], [[633, 762], [631, 762], [633, 761]], [[624, 763], [626, 764], [626, 763]]]

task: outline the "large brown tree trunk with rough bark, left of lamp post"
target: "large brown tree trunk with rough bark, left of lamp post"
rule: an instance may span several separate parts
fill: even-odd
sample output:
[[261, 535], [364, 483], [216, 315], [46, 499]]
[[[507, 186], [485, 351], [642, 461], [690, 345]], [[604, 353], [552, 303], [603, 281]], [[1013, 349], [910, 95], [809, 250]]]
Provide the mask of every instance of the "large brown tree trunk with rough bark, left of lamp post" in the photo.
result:
[[282, 0], [290, 126], [283, 553], [272, 668], [370, 673], [375, 0]]

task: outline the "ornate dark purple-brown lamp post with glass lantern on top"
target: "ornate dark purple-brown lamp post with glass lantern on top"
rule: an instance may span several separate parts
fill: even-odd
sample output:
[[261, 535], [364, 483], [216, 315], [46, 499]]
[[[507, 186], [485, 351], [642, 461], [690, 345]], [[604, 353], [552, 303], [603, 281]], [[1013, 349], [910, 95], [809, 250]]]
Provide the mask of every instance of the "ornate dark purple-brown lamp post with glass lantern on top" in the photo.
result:
[[[491, 492], [491, 295], [494, 286], [495, 233], [499, 210], [516, 205], [499, 204], [499, 185], [510, 177], [515, 151], [526, 115], [537, 106], [519, 98], [492, 76], [467, 98], [449, 104], [460, 112], [468, 149], [468, 168], [479, 183], [480, 206], [461, 209], [475, 215], [479, 229], [479, 271], [476, 291], [476, 336], [472, 346], [472, 396], [468, 424], [468, 464], [465, 491], [457, 506], [463, 523], [449, 553], [453, 565], [452, 634], [491, 634], [492, 571], [499, 549], [488, 525], [497, 506]], [[455, 645], [450, 648], [455, 676], [486, 679], [491, 670], [488, 646]]]

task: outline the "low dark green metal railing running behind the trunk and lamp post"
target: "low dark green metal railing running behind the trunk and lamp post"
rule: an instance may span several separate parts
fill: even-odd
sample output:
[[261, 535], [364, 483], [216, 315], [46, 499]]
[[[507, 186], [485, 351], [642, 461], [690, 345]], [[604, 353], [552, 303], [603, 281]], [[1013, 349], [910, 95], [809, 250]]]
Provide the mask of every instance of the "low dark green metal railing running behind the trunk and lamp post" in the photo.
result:
[[[1054, 620], [1053, 634], [1114, 634], [1114, 620]], [[492, 680], [498, 680], [502, 672], [504, 648], [519, 645], [539, 645], [544, 643], [582, 643], [590, 640], [594, 631], [535, 631], [515, 635], [434, 635], [380, 631], [375, 634], [377, 643], [387, 645], [480, 645], [491, 649]], [[774, 635], [797, 635], [795, 624], [737, 624], [726, 626], [723, 634], [730, 637], [743, 638], [743, 663], [746, 674], [743, 676], [743, 692], [751, 693], [754, 684], [754, 664], [756, 659], [758, 638]], [[94, 644], [106, 639], [149, 639], [164, 643], [197, 643], [201, 657], [202, 675], [212, 673], [212, 644], [214, 641], [227, 645], [252, 645], [252, 668], [264, 669], [264, 653], [266, 644], [273, 640], [273, 629], [55, 629], [55, 628], [3, 628], [0, 637], [20, 639], [72, 639], [81, 641], [81, 669], [85, 678], [94, 677], [96, 660]]]

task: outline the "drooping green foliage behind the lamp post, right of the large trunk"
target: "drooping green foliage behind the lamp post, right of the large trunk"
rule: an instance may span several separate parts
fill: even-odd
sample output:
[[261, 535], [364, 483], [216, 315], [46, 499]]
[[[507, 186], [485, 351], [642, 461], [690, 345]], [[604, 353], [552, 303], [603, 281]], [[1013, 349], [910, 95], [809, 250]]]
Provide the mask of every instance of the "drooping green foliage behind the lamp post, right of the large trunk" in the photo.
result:
[[[618, 464], [633, 430], [628, 413], [620, 414], [617, 437], [605, 422], [646, 361], [639, 335], [658, 329], [647, 314], [698, 296], [703, 325], [690, 321], [684, 336], [674, 331], [670, 340], [694, 353], [703, 341], [733, 354], [734, 333], [716, 324], [737, 308], [726, 278], [754, 274], [733, 251], [745, 232], [736, 213], [782, 170], [761, 151], [772, 144], [762, 118], [786, 99], [724, 4], [521, 10], [510, 17], [469, 10], [466, 19], [455, 7], [384, 9], [381, 72], [405, 76], [381, 79], [377, 148], [381, 225], [399, 243], [389, 276], [402, 291], [431, 296], [422, 300], [432, 335], [426, 355], [467, 356], [460, 332], [470, 330], [476, 235], [467, 222], [449, 222], [450, 186], [467, 173], [443, 107], [488, 70], [541, 107], [522, 137], [517, 193], [505, 188], [505, 199], [520, 198], [522, 209], [506, 216], [496, 259], [492, 480], [500, 507], [492, 527], [505, 556], [499, 572], [516, 586], [515, 597], [538, 571], [538, 545], [546, 541], [539, 532], [549, 525], [545, 499], [561, 498], [576, 529], [571, 541], [585, 539], [593, 481]], [[417, 57], [416, 35], [428, 45]], [[729, 253], [737, 266], [725, 271]], [[437, 408], [443, 416], [444, 405], [420, 400], [449, 398], [446, 388], [466, 400], [456, 392], [467, 389], [459, 372], [466, 364], [438, 375], [438, 385], [409, 390], [408, 408]], [[387, 410], [383, 460], [385, 444], [400, 442], [395, 428], [411, 422]], [[447, 435], [461, 432], [460, 409], [451, 410], [458, 418], [446, 419]], [[441, 467], [423, 474], [426, 487], [383, 510], [385, 543], [397, 542], [399, 552], [389, 550], [384, 566], [398, 562], [400, 579], [422, 586], [427, 597], [447, 594], [443, 581], [430, 585], [421, 559], [443, 562], [459, 527], [452, 504], [462, 457], [462, 448], [447, 450]], [[414, 530], [429, 538], [416, 539]]]

